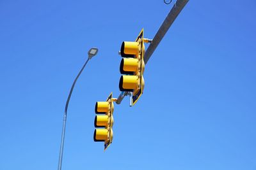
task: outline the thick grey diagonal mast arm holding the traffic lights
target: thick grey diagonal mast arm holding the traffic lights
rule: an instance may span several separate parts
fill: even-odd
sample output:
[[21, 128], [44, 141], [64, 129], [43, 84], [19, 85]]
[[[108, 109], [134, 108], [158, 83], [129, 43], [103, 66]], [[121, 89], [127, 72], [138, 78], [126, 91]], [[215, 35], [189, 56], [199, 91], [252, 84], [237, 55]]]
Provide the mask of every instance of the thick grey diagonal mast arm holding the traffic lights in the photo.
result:
[[[167, 17], [164, 19], [163, 24], [157, 31], [156, 35], [154, 36], [154, 39], [152, 43], [147, 48], [147, 51], [144, 55], [144, 61], [145, 64], [147, 64], [148, 60], [150, 59], [152, 53], [156, 50], [157, 46], [159, 45], [160, 41], [163, 39], [164, 35], [170, 28], [170, 26], [173, 24], [175, 18], [179, 15], [180, 11], [184, 8], [184, 6], [188, 3], [189, 0], [177, 0], [176, 3], [173, 5], [172, 9], [168, 13]], [[120, 104], [122, 100], [125, 97], [125, 92], [122, 92], [117, 100], [116, 104]]]

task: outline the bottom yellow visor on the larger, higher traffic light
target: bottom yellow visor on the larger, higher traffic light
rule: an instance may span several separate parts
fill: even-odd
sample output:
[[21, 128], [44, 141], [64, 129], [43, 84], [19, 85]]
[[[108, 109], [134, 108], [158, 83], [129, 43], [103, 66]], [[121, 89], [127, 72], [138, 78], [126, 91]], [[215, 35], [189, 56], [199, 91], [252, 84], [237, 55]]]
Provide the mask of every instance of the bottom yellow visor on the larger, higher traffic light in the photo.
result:
[[120, 91], [133, 92], [138, 88], [138, 76], [123, 75], [119, 81]]

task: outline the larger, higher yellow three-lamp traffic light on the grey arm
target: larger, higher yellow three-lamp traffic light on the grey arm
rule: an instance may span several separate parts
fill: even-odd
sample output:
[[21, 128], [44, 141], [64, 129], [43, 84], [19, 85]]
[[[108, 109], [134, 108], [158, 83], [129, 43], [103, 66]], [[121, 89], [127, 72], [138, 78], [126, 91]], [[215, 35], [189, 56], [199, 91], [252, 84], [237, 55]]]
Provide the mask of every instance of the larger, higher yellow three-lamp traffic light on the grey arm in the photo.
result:
[[120, 50], [121, 56], [124, 57], [120, 63], [120, 73], [124, 75], [120, 78], [119, 89], [122, 92], [132, 92], [132, 105], [140, 98], [145, 84], [144, 41], [142, 29], [136, 41], [124, 41]]

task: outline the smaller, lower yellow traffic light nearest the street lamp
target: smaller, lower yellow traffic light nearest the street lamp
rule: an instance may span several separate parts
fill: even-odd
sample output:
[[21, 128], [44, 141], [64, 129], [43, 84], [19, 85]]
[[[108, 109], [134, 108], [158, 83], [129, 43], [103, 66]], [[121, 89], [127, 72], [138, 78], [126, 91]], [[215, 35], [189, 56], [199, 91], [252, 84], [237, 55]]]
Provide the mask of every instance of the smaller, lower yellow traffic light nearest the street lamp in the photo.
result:
[[95, 113], [98, 115], [95, 116], [94, 126], [100, 128], [95, 129], [93, 139], [94, 141], [103, 141], [104, 150], [108, 148], [113, 140], [113, 101], [116, 101], [116, 99], [112, 97], [111, 93], [106, 101], [98, 101], [95, 104]]

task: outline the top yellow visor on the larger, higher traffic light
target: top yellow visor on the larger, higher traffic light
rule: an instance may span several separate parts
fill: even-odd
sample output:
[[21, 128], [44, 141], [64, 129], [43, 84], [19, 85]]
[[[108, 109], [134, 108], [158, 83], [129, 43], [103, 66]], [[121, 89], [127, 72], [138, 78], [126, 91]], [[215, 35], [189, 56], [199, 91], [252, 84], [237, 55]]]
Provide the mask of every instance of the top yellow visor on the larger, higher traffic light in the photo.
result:
[[139, 47], [138, 42], [124, 41], [120, 50], [121, 56], [134, 58], [139, 53]]

